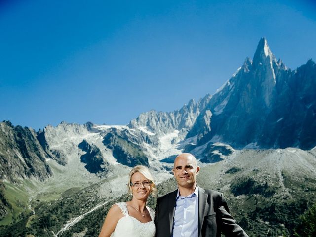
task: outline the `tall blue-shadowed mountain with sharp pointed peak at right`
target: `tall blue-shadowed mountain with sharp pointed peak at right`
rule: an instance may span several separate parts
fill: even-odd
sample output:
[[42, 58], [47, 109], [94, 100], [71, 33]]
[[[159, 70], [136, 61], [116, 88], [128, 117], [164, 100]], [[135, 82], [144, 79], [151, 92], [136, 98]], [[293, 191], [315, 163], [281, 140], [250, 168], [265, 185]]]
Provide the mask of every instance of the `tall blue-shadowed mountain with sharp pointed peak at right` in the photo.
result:
[[260, 40], [253, 60], [210, 99], [187, 138], [197, 145], [220, 141], [234, 148], [311, 149], [316, 145], [316, 64], [295, 71], [276, 61]]

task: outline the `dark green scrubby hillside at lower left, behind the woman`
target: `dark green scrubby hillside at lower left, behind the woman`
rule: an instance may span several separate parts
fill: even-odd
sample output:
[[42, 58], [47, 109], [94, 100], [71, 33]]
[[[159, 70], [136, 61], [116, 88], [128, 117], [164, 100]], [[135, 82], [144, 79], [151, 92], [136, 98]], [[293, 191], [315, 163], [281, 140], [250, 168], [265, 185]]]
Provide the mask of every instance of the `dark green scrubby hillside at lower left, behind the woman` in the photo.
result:
[[[114, 199], [98, 197], [99, 184], [92, 185], [77, 193], [63, 196], [55, 202], [41, 202], [35, 208], [35, 214], [29, 213], [22, 220], [0, 230], [1, 237], [16, 237], [33, 235], [36, 237], [53, 237], [67, 221], [91, 210], [100, 203], [106, 203], [99, 209], [89, 213], [70, 229], [61, 233], [60, 237], [71, 237], [73, 233], [85, 233], [86, 237], [95, 237], [99, 234], [104, 218], [116, 202], [127, 201], [131, 197], [127, 194]], [[159, 195], [170, 192], [176, 188], [173, 179], [158, 186]], [[67, 193], [70, 191], [67, 191]], [[156, 197], [150, 197], [148, 205], [156, 206]]]

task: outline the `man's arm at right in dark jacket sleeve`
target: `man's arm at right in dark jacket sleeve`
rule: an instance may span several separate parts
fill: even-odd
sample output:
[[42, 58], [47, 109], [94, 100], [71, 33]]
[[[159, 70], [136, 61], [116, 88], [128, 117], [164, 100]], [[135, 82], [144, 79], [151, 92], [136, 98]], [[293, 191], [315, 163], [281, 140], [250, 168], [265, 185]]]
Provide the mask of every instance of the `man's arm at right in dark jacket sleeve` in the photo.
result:
[[229, 209], [223, 194], [220, 197], [218, 215], [220, 216], [222, 232], [229, 237], [249, 237], [229, 214]]

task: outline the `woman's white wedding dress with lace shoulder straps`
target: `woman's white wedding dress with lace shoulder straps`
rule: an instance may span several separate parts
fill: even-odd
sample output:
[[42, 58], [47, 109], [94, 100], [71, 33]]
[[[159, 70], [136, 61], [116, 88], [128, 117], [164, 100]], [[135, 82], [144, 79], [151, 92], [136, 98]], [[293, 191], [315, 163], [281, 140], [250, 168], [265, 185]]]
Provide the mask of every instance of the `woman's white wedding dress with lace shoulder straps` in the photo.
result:
[[124, 216], [118, 220], [111, 237], [155, 237], [154, 210], [149, 208], [152, 221], [142, 223], [128, 214], [126, 202], [118, 202], [114, 205], [118, 205]]

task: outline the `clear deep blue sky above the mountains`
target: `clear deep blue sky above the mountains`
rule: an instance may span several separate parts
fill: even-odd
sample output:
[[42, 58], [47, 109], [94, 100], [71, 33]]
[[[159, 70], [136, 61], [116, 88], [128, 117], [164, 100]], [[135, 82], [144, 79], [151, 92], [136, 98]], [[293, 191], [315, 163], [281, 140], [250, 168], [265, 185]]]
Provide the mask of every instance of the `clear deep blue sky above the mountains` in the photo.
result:
[[213, 94], [265, 36], [316, 60], [314, 0], [2, 0], [0, 121], [127, 124]]

